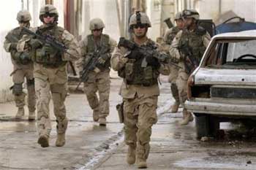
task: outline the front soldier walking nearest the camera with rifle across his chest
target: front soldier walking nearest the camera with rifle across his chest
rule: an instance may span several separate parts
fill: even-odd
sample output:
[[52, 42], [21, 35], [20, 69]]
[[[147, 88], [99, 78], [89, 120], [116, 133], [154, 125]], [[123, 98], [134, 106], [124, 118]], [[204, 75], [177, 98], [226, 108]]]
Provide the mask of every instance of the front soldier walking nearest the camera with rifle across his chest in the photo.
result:
[[[133, 33], [132, 42], [153, 50], [155, 43], [146, 36], [149, 27], [151, 23], [145, 13], [136, 12], [129, 20], [129, 28]], [[147, 65], [141, 66], [145, 61]], [[121, 96], [124, 101], [124, 140], [128, 145], [127, 163], [133, 164], [136, 161], [138, 168], [146, 168], [151, 126], [157, 123], [157, 78], [159, 73], [169, 73], [168, 66], [159, 63], [157, 58], [145, 56], [139, 50], [124, 47], [114, 50], [111, 66], [124, 79]]]

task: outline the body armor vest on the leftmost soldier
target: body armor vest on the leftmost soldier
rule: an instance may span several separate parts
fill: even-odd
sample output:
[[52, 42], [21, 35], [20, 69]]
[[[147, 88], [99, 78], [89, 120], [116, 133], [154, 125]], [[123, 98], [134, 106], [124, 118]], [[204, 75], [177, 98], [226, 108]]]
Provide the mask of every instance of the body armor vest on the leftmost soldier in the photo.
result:
[[[23, 35], [24, 34], [20, 31], [20, 27], [14, 28], [11, 32], [11, 36], [13, 36], [15, 39], [18, 39], [18, 40], [22, 39]], [[17, 50], [11, 50], [10, 54], [11, 54], [12, 59], [17, 64], [26, 65], [26, 64], [29, 64], [32, 62], [32, 61], [20, 60], [20, 55], [23, 55], [23, 53], [20, 53]], [[26, 55], [28, 55], [28, 54], [26, 54]]]

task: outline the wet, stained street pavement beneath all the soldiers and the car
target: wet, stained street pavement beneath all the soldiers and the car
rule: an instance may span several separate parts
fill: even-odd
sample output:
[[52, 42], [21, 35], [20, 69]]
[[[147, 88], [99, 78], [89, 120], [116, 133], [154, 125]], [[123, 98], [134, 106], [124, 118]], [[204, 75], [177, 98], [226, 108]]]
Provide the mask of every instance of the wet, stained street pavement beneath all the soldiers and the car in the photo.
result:
[[[256, 169], [255, 137], [245, 138], [248, 133], [241, 131], [238, 124], [221, 123], [221, 128], [225, 130], [223, 139], [201, 142], [196, 139], [195, 122], [178, 125], [182, 108], [175, 114], [167, 112], [173, 98], [167, 77], [161, 77], [161, 82], [157, 109], [159, 120], [152, 128], [148, 169]], [[135, 165], [126, 163], [123, 124], [118, 123], [116, 112], [116, 104], [121, 101], [118, 96], [120, 85], [120, 79], [112, 79], [110, 115], [106, 127], [92, 121], [92, 112], [84, 94], [70, 93], [66, 101], [70, 121], [64, 147], [55, 147], [56, 123], [52, 104], [50, 116], [53, 129], [50, 147], [46, 148], [37, 144], [35, 122], [28, 122], [27, 117], [15, 121], [14, 102], [0, 104], [0, 169], [137, 169]]]

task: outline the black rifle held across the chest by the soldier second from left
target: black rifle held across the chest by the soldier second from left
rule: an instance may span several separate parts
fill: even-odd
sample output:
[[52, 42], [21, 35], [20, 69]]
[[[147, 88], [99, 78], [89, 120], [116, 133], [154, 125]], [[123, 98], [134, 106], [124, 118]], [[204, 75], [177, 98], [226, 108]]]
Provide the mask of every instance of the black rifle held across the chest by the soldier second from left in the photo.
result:
[[[52, 46], [53, 48], [56, 48], [61, 53], [67, 53], [68, 55], [74, 56], [71, 53], [67, 52], [68, 48], [64, 44], [62, 44], [61, 42], [58, 42], [56, 40], [56, 38], [54, 36], [51, 36], [50, 34], [42, 35], [42, 34], [39, 34], [39, 33], [34, 33], [33, 31], [31, 31], [31, 30], [29, 30], [28, 28], [25, 28], [25, 27], [22, 28], [22, 31], [25, 34], [29, 34], [31, 36], [36, 37], [37, 39], [39, 39], [44, 44], [48, 43], [50, 46]], [[72, 69], [73, 74], [76, 76], [77, 73], [75, 72], [75, 67], [73, 66], [71, 61], [69, 61], [69, 65]]]

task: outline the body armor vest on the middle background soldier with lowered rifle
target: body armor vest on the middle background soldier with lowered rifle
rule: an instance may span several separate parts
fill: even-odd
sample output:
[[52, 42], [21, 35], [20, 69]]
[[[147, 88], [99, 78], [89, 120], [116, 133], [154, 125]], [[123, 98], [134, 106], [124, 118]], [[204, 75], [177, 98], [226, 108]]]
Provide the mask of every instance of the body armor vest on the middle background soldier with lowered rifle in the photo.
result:
[[[95, 50], [98, 50], [101, 47], [107, 47], [110, 53], [110, 44], [109, 44], [110, 37], [107, 34], [102, 34], [102, 36], [100, 37], [99, 45], [97, 45], [96, 42], [94, 41], [94, 36], [92, 34], [88, 35], [87, 39], [88, 39], [87, 53], [94, 53]], [[110, 58], [103, 65], [100, 64], [100, 66], [97, 66], [97, 67], [99, 67], [99, 69], [102, 71], [104, 69], [110, 68]]]

